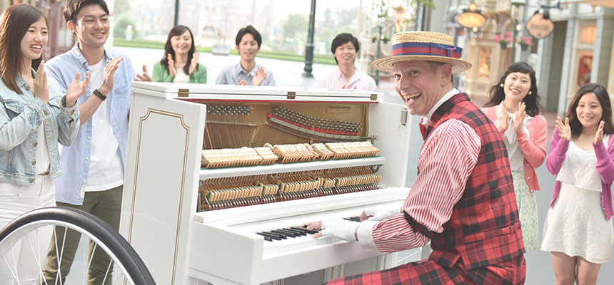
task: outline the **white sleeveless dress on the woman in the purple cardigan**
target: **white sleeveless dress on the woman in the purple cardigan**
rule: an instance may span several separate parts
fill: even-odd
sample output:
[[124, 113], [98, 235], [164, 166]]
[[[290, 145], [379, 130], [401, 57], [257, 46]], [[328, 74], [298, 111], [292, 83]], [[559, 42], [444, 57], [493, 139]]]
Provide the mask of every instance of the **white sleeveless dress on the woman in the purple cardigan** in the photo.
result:
[[597, 264], [610, 261], [614, 227], [601, 209], [601, 177], [595, 152], [569, 142], [556, 180], [560, 181], [560, 192], [545, 217], [541, 249]]

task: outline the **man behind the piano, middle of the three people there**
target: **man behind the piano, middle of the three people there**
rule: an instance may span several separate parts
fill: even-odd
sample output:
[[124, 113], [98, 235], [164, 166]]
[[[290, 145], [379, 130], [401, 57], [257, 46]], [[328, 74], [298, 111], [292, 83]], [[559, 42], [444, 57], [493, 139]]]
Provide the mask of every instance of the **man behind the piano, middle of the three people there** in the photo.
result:
[[238, 30], [235, 43], [241, 61], [224, 68], [216, 84], [275, 86], [273, 72], [256, 64], [256, 54], [262, 45], [262, 37], [256, 28], [249, 25]]

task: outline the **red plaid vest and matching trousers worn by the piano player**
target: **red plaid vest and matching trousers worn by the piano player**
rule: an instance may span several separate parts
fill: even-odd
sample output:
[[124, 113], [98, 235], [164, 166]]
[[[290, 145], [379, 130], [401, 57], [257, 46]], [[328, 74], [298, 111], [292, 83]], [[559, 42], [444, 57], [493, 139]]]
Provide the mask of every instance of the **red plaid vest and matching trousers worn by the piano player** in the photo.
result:
[[498, 130], [465, 94], [454, 95], [431, 117], [427, 135], [446, 120], [468, 124], [481, 140], [478, 162], [443, 232], [430, 232], [404, 213], [408, 224], [431, 238], [431, 256], [384, 271], [328, 284], [523, 284], [524, 246], [508, 154]]

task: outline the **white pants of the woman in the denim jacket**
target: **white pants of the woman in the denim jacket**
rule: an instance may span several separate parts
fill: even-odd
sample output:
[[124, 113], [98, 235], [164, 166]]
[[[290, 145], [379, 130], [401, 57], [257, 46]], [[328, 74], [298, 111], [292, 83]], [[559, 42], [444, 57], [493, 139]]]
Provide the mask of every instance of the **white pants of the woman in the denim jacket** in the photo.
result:
[[[34, 185], [0, 182], [0, 228], [25, 212], [55, 205], [56, 185], [49, 175], [36, 175]], [[48, 226], [30, 232], [12, 245], [12, 252], [0, 257], [0, 284], [39, 283], [53, 230]], [[19, 276], [19, 283], [14, 275]]]

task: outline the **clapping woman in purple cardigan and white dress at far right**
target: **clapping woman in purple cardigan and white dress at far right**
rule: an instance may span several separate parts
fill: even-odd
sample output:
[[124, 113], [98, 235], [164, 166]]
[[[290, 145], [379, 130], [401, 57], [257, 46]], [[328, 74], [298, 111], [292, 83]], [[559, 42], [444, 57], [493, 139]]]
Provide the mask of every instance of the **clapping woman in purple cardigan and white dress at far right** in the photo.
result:
[[550, 252], [556, 284], [597, 284], [610, 261], [614, 227], [614, 133], [608, 91], [585, 84], [558, 118], [546, 166], [556, 175], [541, 249]]

